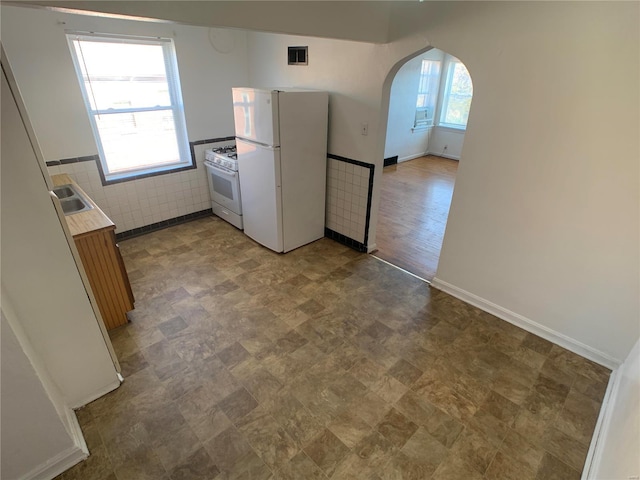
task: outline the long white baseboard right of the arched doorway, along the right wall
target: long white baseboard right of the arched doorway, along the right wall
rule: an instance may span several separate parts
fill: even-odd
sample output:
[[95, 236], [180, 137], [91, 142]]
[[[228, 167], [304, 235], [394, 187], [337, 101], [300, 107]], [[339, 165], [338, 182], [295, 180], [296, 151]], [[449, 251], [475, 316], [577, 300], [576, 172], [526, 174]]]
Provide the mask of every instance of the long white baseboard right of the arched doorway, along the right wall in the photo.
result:
[[437, 277], [433, 279], [431, 286], [611, 370], [615, 370], [622, 364], [622, 361], [617, 358], [613, 358], [612, 356], [585, 345], [584, 343], [568, 337], [563, 333], [556, 332], [551, 328], [540, 325], [529, 318], [512, 312], [500, 305], [496, 305], [489, 300], [485, 300], [484, 298], [458, 288], [455, 285], [444, 282]]

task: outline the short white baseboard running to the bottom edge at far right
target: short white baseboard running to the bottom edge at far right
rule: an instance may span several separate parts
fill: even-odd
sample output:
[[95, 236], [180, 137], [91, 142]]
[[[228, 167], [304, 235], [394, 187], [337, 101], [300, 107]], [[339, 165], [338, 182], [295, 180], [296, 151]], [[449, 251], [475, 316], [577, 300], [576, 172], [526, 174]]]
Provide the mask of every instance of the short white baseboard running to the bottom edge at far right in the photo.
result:
[[589, 452], [587, 452], [587, 458], [584, 462], [584, 468], [582, 469], [582, 477], [580, 477], [581, 480], [597, 480], [595, 475], [596, 472], [598, 472], [604, 453], [604, 444], [602, 441], [607, 438], [609, 428], [611, 427], [616, 400], [622, 383], [620, 381], [621, 377], [620, 369], [612, 371], [609, 376], [609, 384], [602, 399], [600, 414], [598, 415], [598, 421], [596, 422], [596, 427], [591, 437]]

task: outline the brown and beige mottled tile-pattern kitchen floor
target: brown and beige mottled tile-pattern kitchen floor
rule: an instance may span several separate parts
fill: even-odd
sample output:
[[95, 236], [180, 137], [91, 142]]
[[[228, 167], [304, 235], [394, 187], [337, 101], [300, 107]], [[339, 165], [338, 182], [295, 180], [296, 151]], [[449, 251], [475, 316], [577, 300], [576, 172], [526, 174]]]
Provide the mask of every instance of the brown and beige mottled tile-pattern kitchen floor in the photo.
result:
[[210, 217], [121, 248], [126, 381], [60, 478], [580, 478], [605, 368], [328, 239]]

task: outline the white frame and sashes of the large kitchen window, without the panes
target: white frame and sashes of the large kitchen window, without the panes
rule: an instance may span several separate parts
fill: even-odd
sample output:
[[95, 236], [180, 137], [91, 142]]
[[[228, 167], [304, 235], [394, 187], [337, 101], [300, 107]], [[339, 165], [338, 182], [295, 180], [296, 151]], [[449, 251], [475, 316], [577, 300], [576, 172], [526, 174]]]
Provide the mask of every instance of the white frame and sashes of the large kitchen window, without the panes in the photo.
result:
[[[71, 57], [76, 70], [76, 76], [82, 90], [82, 96], [85, 102], [85, 107], [89, 114], [89, 121], [91, 128], [98, 146], [98, 154], [100, 161], [98, 165], [102, 177], [103, 185], [109, 185], [113, 183], [119, 183], [123, 181], [136, 180], [139, 178], [162, 175], [167, 173], [175, 173], [177, 171], [188, 170], [196, 168], [196, 163], [191, 156], [191, 150], [189, 146], [189, 140], [187, 137], [187, 128], [184, 118], [184, 103], [182, 101], [182, 90], [180, 88], [180, 77], [178, 75], [178, 63], [176, 59], [176, 52], [173, 39], [160, 38], [160, 37], [138, 37], [130, 35], [114, 35], [107, 33], [94, 33], [94, 32], [76, 32], [66, 31], [67, 42], [71, 51]], [[132, 107], [132, 108], [109, 108], [107, 110], [95, 110], [91, 106], [90, 92], [87, 91], [85, 81], [82, 76], [82, 69], [80, 67], [80, 59], [76, 53], [74, 46], [75, 40], [81, 41], [103, 41], [111, 43], [132, 43], [132, 44], [146, 44], [157, 45], [162, 47], [164, 56], [165, 72], [167, 75], [167, 83], [169, 86], [169, 98], [170, 105], [158, 105], [155, 107]], [[175, 122], [176, 142], [178, 145], [179, 160], [170, 164], [159, 164], [155, 166], [145, 166], [137, 169], [131, 169], [126, 172], [110, 172], [107, 164], [106, 156], [102, 146], [102, 140], [100, 138], [100, 132], [96, 123], [96, 116], [98, 115], [110, 115], [118, 113], [137, 113], [137, 112], [150, 112], [150, 111], [164, 111], [171, 110], [173, 113], [173, 119]]]

